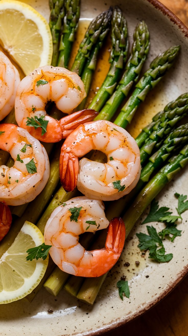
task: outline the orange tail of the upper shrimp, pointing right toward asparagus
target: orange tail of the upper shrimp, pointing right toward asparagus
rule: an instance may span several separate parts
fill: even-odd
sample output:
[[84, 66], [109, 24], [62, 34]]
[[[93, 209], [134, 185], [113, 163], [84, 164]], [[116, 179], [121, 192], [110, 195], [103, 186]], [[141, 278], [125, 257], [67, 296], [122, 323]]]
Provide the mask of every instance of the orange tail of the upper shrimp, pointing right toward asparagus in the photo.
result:
[[92, 121], [97, 117], [98, 112], [87, 109], [74, 112], [66, 117], [60, 119], [62, 129], [62, 138], [65, 139], [75, 128], [86, 122]]

